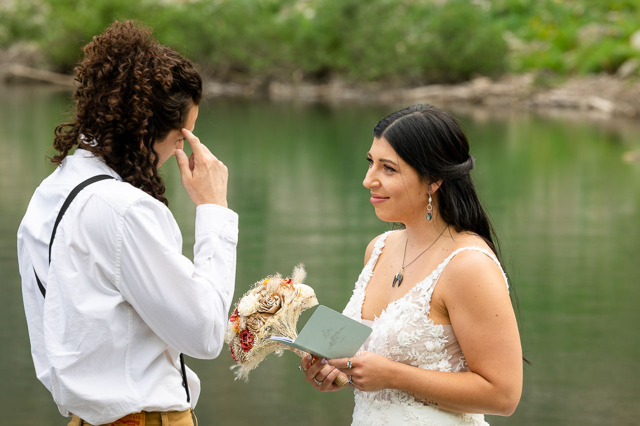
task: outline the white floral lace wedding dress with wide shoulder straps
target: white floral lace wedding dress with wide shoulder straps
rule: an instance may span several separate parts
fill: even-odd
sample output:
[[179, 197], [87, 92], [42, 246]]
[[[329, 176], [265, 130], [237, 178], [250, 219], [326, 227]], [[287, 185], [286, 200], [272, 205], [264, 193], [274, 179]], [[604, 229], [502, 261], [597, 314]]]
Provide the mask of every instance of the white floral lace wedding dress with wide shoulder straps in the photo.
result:
[[[393, 361], [428, 370], [468, 371], [467, 361], [452, 327], [436, 325], [428, 318], [431, 294], [445, 266], [460, 251], [481, 251], [492, 258], [502, 271], [500, 263], [493, 253], [483, 248], [471, 246], [457, 249], [404, 297], [390, 303], [380, 317], [376, 317], [374, 321], [364, 320], [362, 303], [365, 290], [390, 232], [393, 231], [384, 233], [376, 241], [371, 258], [358, 277], [353, 296], [342, 312], [372, 327], [371, 336], [362, 345], [362, 350], [376, 352]], [[506, 283], [504, 271], [502, 275]], [[484, 421], [483, 414], [454, 413], [425, 405], [404, 391], [385, 389], [364, 392], [356, 389], [352, 426], [371, 425], [488, 426], [488, 423]]]

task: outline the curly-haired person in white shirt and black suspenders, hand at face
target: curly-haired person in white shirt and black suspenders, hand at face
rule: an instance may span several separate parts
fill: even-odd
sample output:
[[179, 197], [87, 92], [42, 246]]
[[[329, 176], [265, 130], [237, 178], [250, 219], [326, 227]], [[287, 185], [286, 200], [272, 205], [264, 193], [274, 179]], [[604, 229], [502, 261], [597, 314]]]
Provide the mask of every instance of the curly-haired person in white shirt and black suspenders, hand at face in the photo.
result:
[[[192, 133], [202, 79], [131, 21], [95, 36], [76, 74], [58, 167], [18, 230], [36, 375], [70, 425], [192, 425], [200, 381], [182, 354], [220, 354], [238, 233], [227, 167]], [[158, 174], [172, 155], [197, 206], [193, 263]]]

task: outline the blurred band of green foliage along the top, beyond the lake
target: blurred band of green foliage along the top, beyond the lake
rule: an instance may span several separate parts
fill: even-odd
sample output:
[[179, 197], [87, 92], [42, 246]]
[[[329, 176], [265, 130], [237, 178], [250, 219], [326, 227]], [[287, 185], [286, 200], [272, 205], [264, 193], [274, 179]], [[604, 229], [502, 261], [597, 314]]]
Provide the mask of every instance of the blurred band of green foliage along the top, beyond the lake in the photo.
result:
[[423, 84], [615, 72], [640, 58], [629, 43], [637, 0], [0, 0], [0, 46], [38, 43], [70, 70], [114, 19], [138, 19], [217, 78], [241, 81]]

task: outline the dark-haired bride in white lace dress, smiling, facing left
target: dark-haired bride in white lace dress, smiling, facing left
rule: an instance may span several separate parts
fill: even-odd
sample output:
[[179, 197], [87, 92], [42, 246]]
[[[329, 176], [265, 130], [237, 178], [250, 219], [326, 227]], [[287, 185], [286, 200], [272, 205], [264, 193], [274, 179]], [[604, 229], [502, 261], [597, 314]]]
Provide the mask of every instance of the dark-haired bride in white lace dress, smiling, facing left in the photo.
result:
[[353, 425], [486, 425], [522, 393], [522, 349], [495, 234], [456, 120], [416, 105], [373, 131], [364, 186], [383, 221], [344, 315], [372, 327], [353, 358], [300, 364], [309, 383], [355, 389]]

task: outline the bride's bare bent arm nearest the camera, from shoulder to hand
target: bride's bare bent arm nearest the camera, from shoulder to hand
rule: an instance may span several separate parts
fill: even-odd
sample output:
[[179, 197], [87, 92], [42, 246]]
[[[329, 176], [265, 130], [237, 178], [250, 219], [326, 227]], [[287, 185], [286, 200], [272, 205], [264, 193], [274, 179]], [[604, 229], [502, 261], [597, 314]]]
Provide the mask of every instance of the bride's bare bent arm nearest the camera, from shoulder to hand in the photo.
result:
[[483, 253], [463, 251], [447, 265], [437, 286], [439, 299], [432, 308], [445, 306], [469, 372], [425, 370], [372, 352], [351, 358], [351, 369], [344, 358], [330, 359], [329, 365], [351, 375], [359, 390], [392, 388], [449, 411], [512, 414], [522, 393], [522, 350], [502, 272]]

